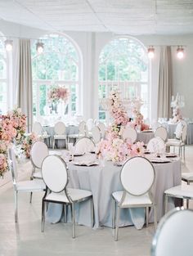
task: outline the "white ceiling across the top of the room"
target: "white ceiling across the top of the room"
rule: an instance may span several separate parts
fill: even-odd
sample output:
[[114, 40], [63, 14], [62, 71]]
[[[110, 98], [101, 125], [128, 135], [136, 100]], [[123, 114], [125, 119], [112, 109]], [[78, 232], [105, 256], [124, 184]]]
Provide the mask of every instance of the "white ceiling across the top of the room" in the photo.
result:
[[0, 19], [50, 31], [193, 34], [193, 0], [0, 0]]

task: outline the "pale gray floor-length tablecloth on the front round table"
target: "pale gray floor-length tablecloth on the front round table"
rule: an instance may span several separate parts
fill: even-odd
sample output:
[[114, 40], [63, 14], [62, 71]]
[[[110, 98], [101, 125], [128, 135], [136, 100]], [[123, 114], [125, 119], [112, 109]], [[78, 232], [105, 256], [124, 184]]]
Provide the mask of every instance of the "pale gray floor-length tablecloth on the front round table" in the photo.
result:
[[[95, 213], [95, 228], [112, 225], [112, 200], [114, 191], [122, 190], [119, 179], [121, 167], [114, 166], [112, 162], [105, 162], [105, 167], [84, 167], [69, 165], [70, 187], [92, 191]], [[154, 164], [155, 184], [152, 193], [158, 208], [158, 219], [164, 215], [164, 191], [181, 183], [181, 162], [179, 159], [168, 164]], [[168, 207], [173, 208], [173, 201]], [[83, 202], [76, 211], [76, 222], [91, 225], [90, 202]], [[48, 222], [59, 222], [61, 219], [61, 205], [50, 204], [47, 211]], [[144, 209], [122, 209], [120, 214], [120, 227], [135, 225], [137, 229], [143, 227], [145, 222]], [[153, 214], [150, 211], [150, 222]]]

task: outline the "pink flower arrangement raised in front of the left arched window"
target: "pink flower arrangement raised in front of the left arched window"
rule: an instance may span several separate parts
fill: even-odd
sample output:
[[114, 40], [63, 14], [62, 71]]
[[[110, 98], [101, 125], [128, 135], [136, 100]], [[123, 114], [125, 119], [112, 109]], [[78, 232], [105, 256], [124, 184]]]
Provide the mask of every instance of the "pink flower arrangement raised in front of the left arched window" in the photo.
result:
[[68, 100], [69, 97], [69, 90], [67, 88], [52, 88], [50, 90], [50, 92], [48, 92], [48, 98], [51, 101], [64, 101], [66, 102]]

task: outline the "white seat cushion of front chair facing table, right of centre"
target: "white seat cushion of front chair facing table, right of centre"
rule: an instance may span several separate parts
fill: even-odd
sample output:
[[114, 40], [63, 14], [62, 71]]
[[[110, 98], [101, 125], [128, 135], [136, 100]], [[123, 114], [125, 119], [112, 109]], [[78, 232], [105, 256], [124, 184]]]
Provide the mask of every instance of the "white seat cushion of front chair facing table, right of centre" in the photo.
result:
[[[114, 200], [116, 200], [118, 203], [122, 199], [123, 191], [116, 191], [113, 194]], [[140, 195], [140, 196], [134, 196], [129, 195], [128, 193], [125, 196], [125, 199], [123, 201], [124, 205], [132, 205], [132, 204], [152, 204], [152, 201], [150, 200], [150, 196], [148, 194]]]

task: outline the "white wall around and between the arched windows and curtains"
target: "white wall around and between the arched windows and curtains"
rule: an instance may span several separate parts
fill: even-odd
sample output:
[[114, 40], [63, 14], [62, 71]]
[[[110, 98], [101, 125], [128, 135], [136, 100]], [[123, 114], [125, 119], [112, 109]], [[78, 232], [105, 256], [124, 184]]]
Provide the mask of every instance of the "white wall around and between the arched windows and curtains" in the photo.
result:
[[[22, 25], [16, 25], [10, 22], [0, 20], [0, 31], [2, 34], [16, 37], [14, 43], [17, 43], [17, 38], [39, 38], [47, 31], [40, 29], [33, 29]], [[98, 110], [98, 57], [102, 47], [108, 43], [114, 34], [110, 33], [88, 33], [88, 32], [66, 32], [79, 46], [83, 56], [83, 115], [85, 119], [90, 117], [97, 118]], [[183, 115], [193, 119], [191, 111], [193, 101], [191, 100], [193, 93], [193, 34], [182, 36], [138, 36], [141, 43], [146, 47], [155, 45], [155, 59], [151, 61], [150, 74], [150, 105], [151, 105], [151, 119], [157, 118], [157, 92], [158, 92], [158, 71], [159, 71], [159, 46], [160, 45], [186, 45], [186, 57], [183, 60], [177, 60], [176, 47], [173, 47], [173, 94], [179, 92], [184, 95], [186, 106], [183, 109]], [[13, 51], [13, 95], [15, 96], [16, 86], [15, 81], [15, 61], [16, 61], [16, 47]], [[15, 99], [16, 97], [13, 97]]]

